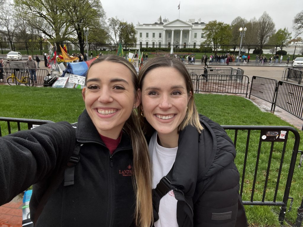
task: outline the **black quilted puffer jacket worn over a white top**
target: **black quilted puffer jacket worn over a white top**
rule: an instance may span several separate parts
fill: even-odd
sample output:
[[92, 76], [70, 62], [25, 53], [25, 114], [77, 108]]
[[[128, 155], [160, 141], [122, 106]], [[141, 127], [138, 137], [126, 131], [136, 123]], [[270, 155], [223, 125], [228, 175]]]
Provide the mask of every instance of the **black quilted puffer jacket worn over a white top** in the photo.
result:
[[179, 134], [170, 184], [178, 200], [178, 225], [245, 227], [235, 146], [219, 124], [202, 115], [200, 121], [201, 134], [191, 126]]

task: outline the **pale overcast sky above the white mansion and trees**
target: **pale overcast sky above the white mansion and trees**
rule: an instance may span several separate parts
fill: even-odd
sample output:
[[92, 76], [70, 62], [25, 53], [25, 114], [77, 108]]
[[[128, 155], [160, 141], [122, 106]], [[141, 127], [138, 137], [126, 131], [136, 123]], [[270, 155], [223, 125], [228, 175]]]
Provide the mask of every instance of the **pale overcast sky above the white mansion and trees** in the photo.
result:
[[292, 20], [303, 10], [303, 0], [101, 0], [107, 18], [117, 16], [120, 20], [138, 24], [152, 24], [165, 17], [169, 21], [195, 19], [207, 23], [211, 20], [230, 24], [237, 16], [250, 20], [257, 19], [264, 11], [268, 12], [275, 22], [276, 30], [288, 28], [292, 32]]

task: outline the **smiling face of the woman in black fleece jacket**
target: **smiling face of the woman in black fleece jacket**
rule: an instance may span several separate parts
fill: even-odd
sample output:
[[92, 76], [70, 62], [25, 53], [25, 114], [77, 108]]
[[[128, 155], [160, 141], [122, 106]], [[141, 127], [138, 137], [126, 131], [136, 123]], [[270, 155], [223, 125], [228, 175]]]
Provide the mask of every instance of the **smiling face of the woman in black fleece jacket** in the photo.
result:
[[131, 71], [122, 63], [110, 61], [89, 68], [82, 96], [98, 132], [113, 139], [119, 137], [133, 106], [140, 104]]

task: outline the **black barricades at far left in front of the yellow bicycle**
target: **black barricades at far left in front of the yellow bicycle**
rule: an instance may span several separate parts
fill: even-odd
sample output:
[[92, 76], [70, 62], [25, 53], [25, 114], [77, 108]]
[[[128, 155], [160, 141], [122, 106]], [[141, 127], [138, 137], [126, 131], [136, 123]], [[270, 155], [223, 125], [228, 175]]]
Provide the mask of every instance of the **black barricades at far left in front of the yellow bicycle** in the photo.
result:
[[[7, 62], [5, 62], [7, 63]], [[33, 86], [34, 84], [43, 85], [45, 77], [49, 74], [47, 69], [28, 69], [22, 65], [22, 63], [5, 64], [3, 67], [3, 83], [8, 83], [9, 85], [26, 85]], [[6, 67], [10, 66], [10, 67]], [[19, 67], [23, 66], [23, 67]], [[36, 81], [35, 83], [35, 76]]]

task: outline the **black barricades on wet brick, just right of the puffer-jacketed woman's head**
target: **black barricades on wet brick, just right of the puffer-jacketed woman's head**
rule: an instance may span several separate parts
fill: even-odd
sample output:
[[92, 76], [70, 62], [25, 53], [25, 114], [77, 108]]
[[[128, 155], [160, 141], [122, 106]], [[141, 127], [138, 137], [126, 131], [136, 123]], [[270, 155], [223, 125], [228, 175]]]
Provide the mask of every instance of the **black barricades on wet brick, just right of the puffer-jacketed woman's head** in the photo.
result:
[[195, 93], [216, 92], [248, 95], [249, 78], [232, 67], [186, 66]]

